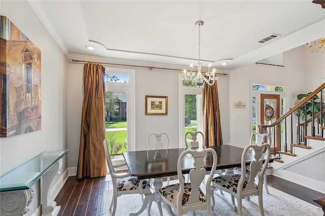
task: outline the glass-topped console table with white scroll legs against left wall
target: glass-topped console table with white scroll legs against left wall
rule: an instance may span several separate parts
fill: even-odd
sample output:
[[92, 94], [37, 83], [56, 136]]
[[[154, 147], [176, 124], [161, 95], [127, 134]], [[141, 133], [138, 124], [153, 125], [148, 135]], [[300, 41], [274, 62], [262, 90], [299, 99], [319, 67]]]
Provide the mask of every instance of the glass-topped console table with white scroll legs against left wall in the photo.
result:
[[42, 215], [57, 215], [60, 206], [49, 200], [50, 185], [62, 166], [62, 157], [69, 150], [45, 151], [35, 158], [0, 176], [0, 215], [23, 215], [29, 210], [35, 183], [40, 179]]

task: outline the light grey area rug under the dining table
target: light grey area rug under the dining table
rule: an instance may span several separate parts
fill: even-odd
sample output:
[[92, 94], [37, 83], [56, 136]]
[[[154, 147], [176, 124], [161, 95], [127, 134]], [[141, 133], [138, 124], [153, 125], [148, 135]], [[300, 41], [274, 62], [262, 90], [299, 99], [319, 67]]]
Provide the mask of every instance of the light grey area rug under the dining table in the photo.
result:
[[[277, 189], [269, 186], [270, 194], [263, 192], [263, 205], [265, 215], [276, 215], [276, 216], [288, 216], [288, 215], [308, 215], [308, 216], [321, 216], [323, 211], [320, 207], [312, 205], [301, 199], [283, 193]], [[104, 205], [105, 215], [111, 216], [112, 210], [109, 210], [113, 191], [105, 191], [104, 194]], [[219, 191], [214, 192], [215, 207], [211, 211], [212, 215], [238, 215], [237, 211], [233, 210], [231, 195], [228, 193], [220, 194]], [[236, 199], [235, 199], [236, 202]], [[243, 215], [261, 215], [258, 208], [258, 197], [251, 196], [250, 200], [243, 199]], [[115, 215], [128, 215], [132, 212], [137, 212], [141, 208], [141, 196], [139, 194], [133, 195], [122, 195], [117, 198], [117, 208]], [[237, 206], [237, 202], [236, 202]], [[162, 204], [163, 215], [169, 215], [167, 209]], [[140, 215], [148, 215], [147, 208]], [[197, 210], [196, 215], [206, 215], [206, 211]], [[158, 207], [155, 202], [152, 203], [150, 214], [152, 216], [159, 215]], [[188, 212], [186, 215], [193, 215], [192, 212]]]

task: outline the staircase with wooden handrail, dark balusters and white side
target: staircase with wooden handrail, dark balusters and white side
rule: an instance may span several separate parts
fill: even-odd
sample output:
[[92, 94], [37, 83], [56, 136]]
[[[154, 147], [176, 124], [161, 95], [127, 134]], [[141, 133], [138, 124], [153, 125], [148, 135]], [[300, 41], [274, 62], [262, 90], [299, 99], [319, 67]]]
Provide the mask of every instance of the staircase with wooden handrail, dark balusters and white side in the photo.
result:
[[[296, 114], [306, 110], [307, 103], [319, 105], [315, 98], [322, 104], [324, 88], [325, 83], [273, 124], [258, 125], [260, 133], [271, 134], [273, 154], [281, 158], [274, 160], [272, 174], [321, 193], [325, 193], [325, 106], [317, 113], [312, 109], [304, 121]], [[281, 132], [276, 133], [279, 128]]]

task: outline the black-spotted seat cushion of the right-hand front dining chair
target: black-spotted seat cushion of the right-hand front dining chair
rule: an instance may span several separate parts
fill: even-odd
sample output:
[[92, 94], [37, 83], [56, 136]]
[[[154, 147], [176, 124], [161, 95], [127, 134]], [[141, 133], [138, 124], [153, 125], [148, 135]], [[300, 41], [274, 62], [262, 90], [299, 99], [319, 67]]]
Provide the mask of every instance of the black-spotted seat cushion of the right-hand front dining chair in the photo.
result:
[[[218, 184], [223, 188], [229, 189], [237, 193], [237, 186], [240, 179], [240, 174], [231, 174], [231, 175], [220, 175], [212, 179], [212, 183]], [[245, 190], [247, 185], [247, 179], [245, 179], [243, 184], [243, 190]], [[254, 187], [257, 188], [257, 185], [254, 184]]]

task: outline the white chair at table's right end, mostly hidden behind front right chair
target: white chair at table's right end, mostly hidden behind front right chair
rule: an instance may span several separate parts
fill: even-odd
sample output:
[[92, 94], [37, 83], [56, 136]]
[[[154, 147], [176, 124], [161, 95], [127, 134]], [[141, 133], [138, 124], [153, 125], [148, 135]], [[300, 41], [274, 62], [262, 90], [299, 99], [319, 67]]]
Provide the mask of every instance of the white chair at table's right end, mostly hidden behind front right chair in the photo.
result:
[[[253, 141], [255, 137], [255, 141]], [[249, 139], [249, 143], [250, 144], [262, 144], [264, 142], [266, 143], [271, 143], [271, 135], [270, 134], [267, 134], [267, 133], [257, 133], [257, 132], [254, 132], [250, 135], [250, 139]], [[261, 167], [262, 169], [262, 167]], [[234, 168], [234, 173], [237, 173], [237, 174], [241, 174], [242, 173], [242, 169], [241, 167], [236, 167]], [[246, 177], [249, 176], [249, 167], [246, 166], [245, 168], [245, 173], [246, 173]], [[257, 173], [257, 176], [258, 176], [258, 173]], [[264, 178], [264, 188], [265, 188], [265, 191], [269, 194], [269, 189], [268, 189], [268, 182], [267, 182], [267, 174], [266, 172], [264, 173], [263, 175], [263, 178]], [[249, 199], [249, 197], [248, 197]]]

